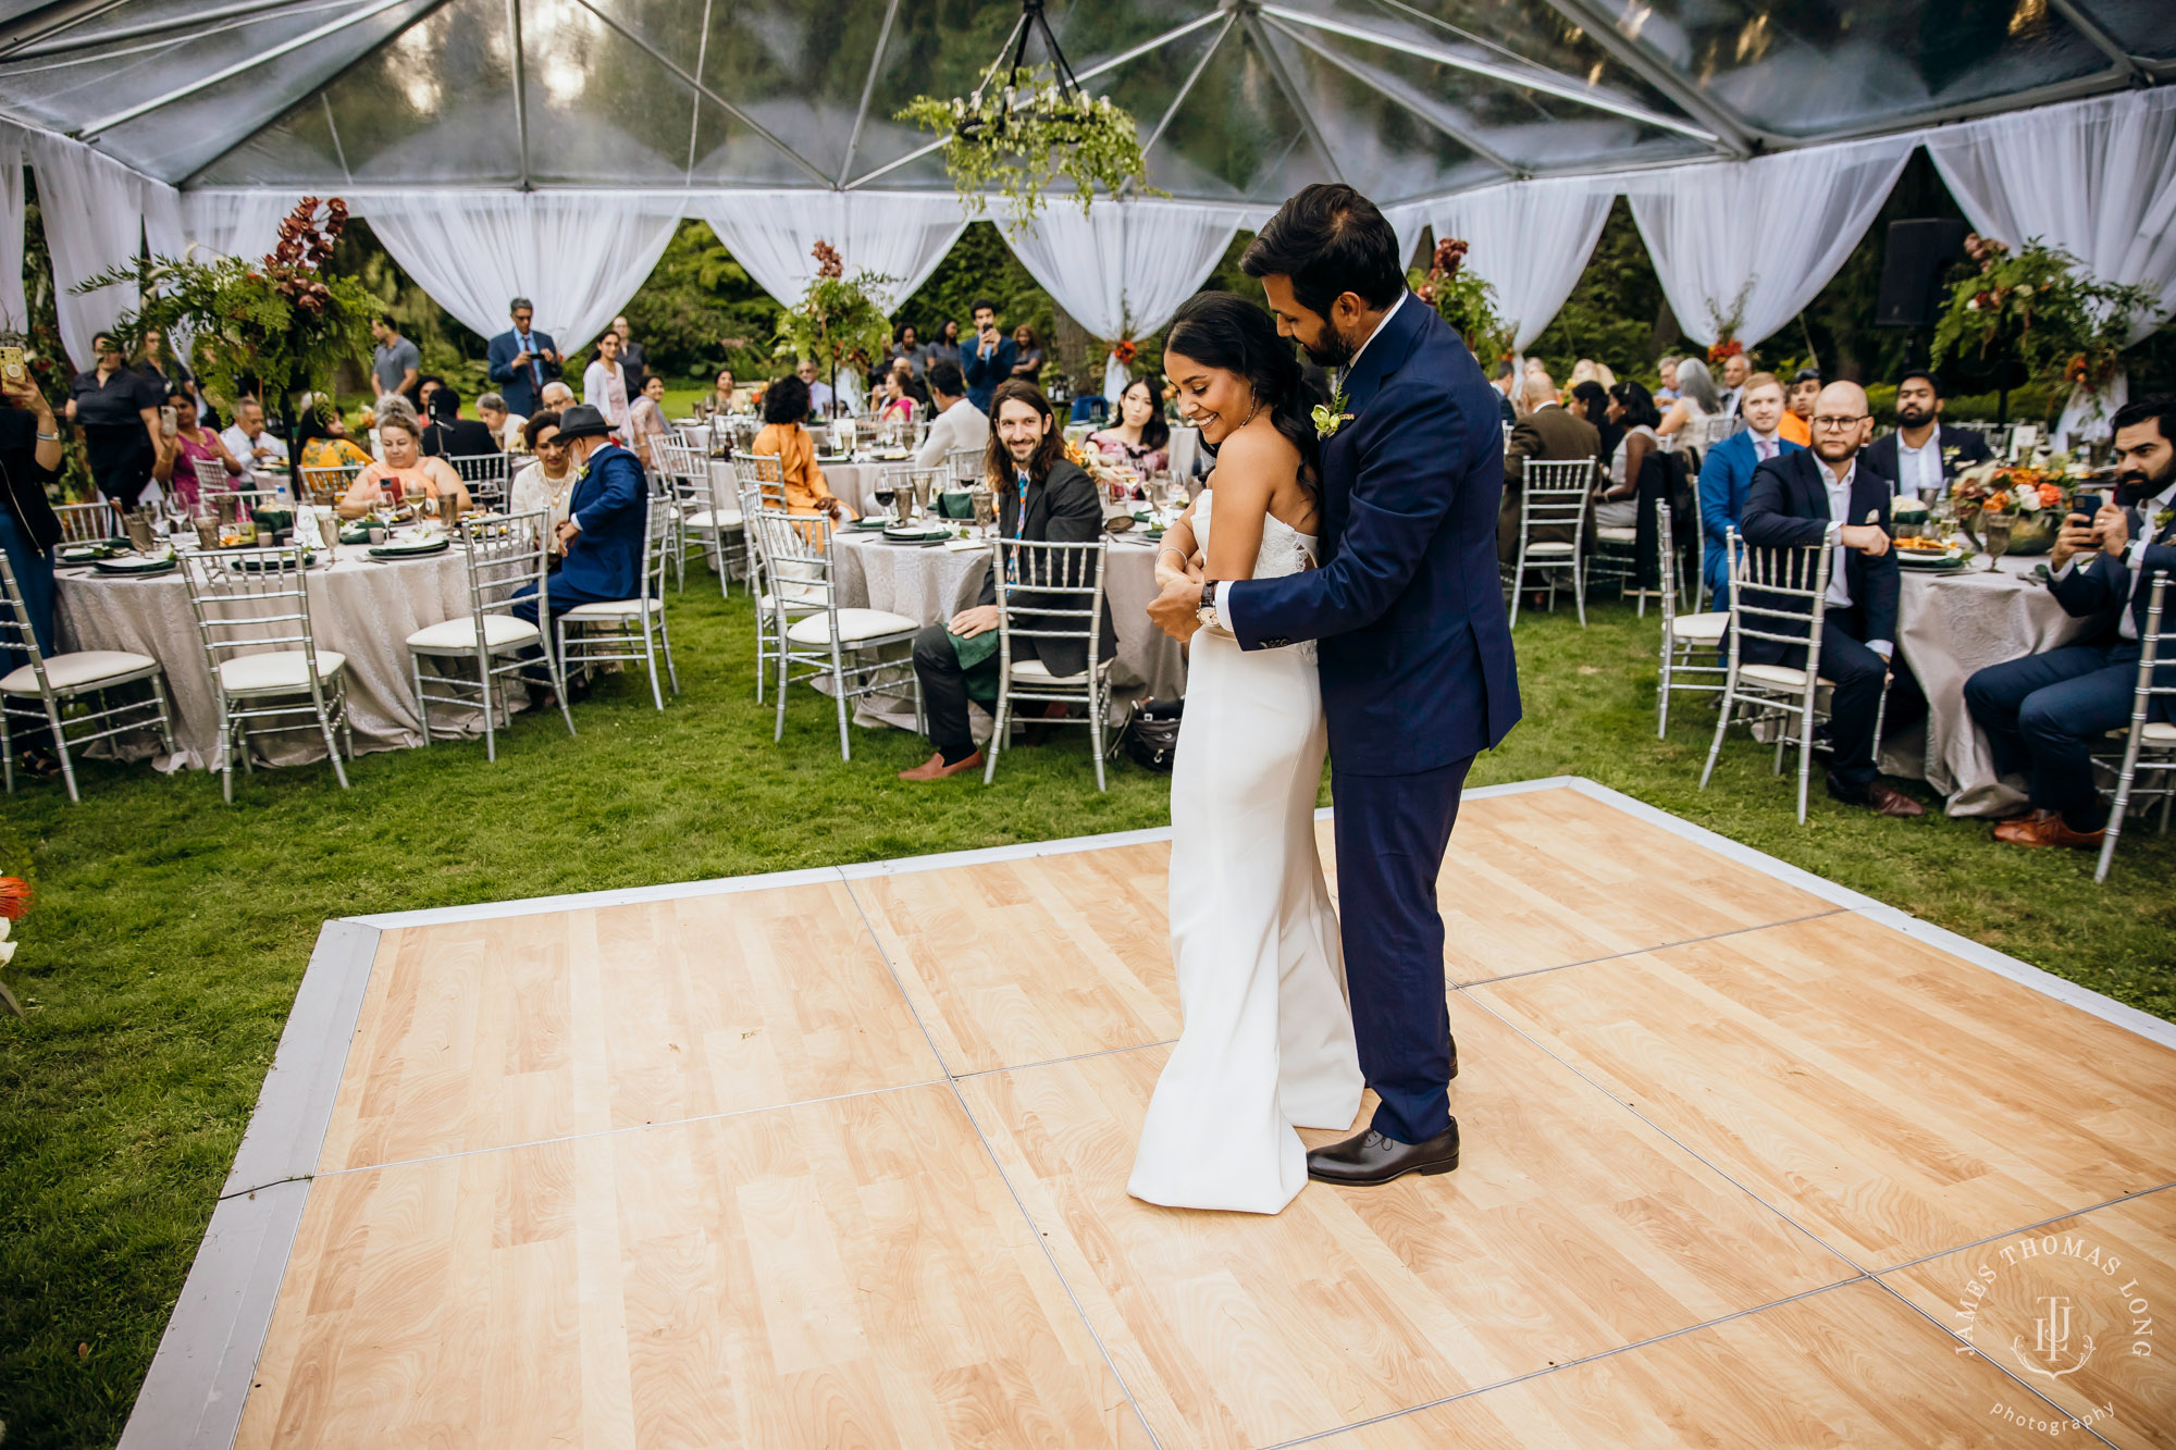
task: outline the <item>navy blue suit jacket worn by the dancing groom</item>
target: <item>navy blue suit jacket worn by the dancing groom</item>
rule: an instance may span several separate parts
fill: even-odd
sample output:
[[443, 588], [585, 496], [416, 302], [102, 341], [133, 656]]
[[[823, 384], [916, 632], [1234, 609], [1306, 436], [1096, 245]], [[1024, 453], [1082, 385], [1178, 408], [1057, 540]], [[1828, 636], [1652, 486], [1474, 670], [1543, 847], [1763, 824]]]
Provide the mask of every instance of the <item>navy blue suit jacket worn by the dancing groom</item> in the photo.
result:
[[1232, 586], [1245, 649], [1321, 640], [1340, 775], [1417, 775], [1519, 723], [1495, 523], [1504, 425], [1473, 353], [1417, 296], [1345, 379], [1323, 440], [1323, 568]]

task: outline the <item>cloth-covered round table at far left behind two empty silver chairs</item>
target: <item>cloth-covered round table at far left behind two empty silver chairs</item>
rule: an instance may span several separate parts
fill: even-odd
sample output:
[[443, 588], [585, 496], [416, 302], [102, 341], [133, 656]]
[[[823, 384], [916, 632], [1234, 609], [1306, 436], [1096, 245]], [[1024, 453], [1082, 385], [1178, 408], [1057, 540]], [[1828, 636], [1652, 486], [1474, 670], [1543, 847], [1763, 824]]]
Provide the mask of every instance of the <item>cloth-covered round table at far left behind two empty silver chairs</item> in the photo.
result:
[[[422, 745], [422, 716], [409, 673], [407, 636], [468, 614], [468, 562], [459, 546], [420, 560], [379, 562], [363, 544], [342, 544], [331, 564], [309, 570], [309, 618], [318, 649], [348, 658], [348, 721], [355, 751]], [[157, 760], [163, 771], [218, 769], [220, 701], [189, 610], [183, 570], [131, 579], [89, 568], [54, 575], [54, 623], [63, 649], [126, 649], [165, 668], [178, 753]], [[524, 705], [514, 690], [514, 705]], [[435, 736], [481, 734], [481, 712], [431, 708]], [[122, 753], [157, 755], [150, 732], [124, 736]], [[324, 760], [324, 740], [309, 732], [252, 734], [263, 764]]]

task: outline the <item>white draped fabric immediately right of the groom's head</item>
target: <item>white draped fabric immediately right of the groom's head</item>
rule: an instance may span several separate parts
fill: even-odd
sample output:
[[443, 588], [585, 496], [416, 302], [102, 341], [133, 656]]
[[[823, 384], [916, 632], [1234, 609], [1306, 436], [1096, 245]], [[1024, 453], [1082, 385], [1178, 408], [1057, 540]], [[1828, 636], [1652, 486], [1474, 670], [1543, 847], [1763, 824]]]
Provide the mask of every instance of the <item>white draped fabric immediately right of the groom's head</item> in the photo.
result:
[[1430, 202], [1427, 222], [1438, 244], [1467, 242], [1467, 268], [1495, 287], [1512, 348], [1523, 353], [1580, 285], [1615, 198], [1610, 179], [1514, 181]]

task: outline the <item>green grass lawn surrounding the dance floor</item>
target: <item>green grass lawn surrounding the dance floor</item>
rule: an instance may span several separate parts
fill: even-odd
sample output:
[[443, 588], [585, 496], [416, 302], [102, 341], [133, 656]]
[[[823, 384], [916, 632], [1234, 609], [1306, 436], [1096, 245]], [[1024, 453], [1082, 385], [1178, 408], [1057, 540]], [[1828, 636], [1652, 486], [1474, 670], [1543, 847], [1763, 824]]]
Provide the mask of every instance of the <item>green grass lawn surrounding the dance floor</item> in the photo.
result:
[[[1621, 605], [1519, 623], [1525, 723], [1475, 784], [1586, 775], [2122, 1002], [2176, 1015], [2176, 838], [2124, 840], [2106, 888], [2082, 853], [1993, 845], [1985, 823], [1887, 821], [1734, 738], [1697, 790], [1713, 716], [1654, 736], [1654, 620]], [[683, 695], [640, 673], [479, 745], [218, 777], [89, 766], [85, 801], [24, 786], [0, 864], [39, 901], [0, 1017], [0, 1420], [7, 1446], [107, 1446], [181, 1293], [213, 1195], [326, 917], [881, 860], [1166, 823], [1166, 779], [1121, 762], [1097, 795], [1086, 732], [979, 779], [903, 786], [927, 751], [799, 695], [783, 745], [753, 697], [751, 610], [709, 575], [672, 601]], [[1327, 799], [1327, 797], [1325, 797]]]

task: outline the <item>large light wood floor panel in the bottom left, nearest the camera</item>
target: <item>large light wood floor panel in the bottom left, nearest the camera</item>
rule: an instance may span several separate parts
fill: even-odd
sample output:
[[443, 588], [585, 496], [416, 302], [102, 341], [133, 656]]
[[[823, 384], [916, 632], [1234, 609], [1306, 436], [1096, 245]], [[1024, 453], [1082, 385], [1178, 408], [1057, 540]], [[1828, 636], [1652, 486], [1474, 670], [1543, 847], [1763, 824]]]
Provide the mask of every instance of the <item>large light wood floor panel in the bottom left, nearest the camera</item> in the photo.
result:
[[936, 1084], [318, 1178], [237, 1446], [1147, 1437]]

